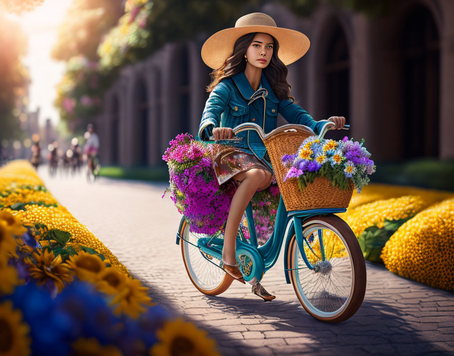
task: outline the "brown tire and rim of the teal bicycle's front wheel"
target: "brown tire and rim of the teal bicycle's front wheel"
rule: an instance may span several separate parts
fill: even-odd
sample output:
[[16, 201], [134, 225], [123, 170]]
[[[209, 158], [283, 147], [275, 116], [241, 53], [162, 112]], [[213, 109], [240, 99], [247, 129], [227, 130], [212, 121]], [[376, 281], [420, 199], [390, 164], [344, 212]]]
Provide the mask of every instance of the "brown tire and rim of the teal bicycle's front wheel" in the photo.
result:
[[[349, 262], [351, 264], [353, 276], [350, 287], [351, 288], [350, 295], [344, 301], [344, 304], [337, 309], [338, 311], [332, 311], [330, 313], [326, 313], [325, 311], [318, 309], [309, 301], [309, 298], [306, 296], [303, 290], [304, 288], [302, 288], [300, 283], [298, 283], [299, 270], [302, 270], [302, 268], [298, 269], [297, 265], [298, 259], [297, 254], [299, 252], [299, 248], [296, 242], [295, 235], [293, 235], [290, 240], [289, 245], [290, 247], [287, 255], [288, 266], [291, 269], [290, 279], [299, 302], [301, 303], [302, 307], [304, 307], [305, 310], [312, 317], [327, 323], [343, 322], [352, 317], [356, 313], [364, 299], [364, 294], [366, 291], [366, 264], [364, 261], [364, 256], [362, 254], [361, 247], [359, 246], [358, 240], [355, 234], [353, 233], [352, 229], [348, 226], [347, 222], [345, 222], [340, 217], [333, 214], [325, 216], [313, 216], [305, 220], [303, 226], [304, 229], [306, 229], [311, 227], [311, 225], [315, 226], [315, 224], [318, 224], [317, 226], [325, 226], [327, 230], [331, 230], [334, 233], [336, 233], [336, 235], [339, 236], [341, 240], [343, 240], [345, 247], [347, 247], [347, 252], [348, 255], [350, 256]], [[345, 265], [346, 264], [344, 264], [344, 266]], [[315, 275], [315, 272], [313, 272], [313, 274]], [[344, 276], [342, 276], [341, 278], [344, 278]], [[320, 294], [322, 294], [322, 292], [320, 292]], [[338, 299], [341, 298], [338, 297]], [[314, 300], [316, 300], [316, 298], [314, 298]]]

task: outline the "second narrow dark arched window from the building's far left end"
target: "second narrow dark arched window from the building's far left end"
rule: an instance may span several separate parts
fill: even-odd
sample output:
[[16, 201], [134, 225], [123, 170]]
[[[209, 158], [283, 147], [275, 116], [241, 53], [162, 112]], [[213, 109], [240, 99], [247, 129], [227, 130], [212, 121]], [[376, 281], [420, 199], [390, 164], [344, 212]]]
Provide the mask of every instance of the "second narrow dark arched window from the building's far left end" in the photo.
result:
[[139, 154], [138, 163], [140, 165], [148, 165], [148, 94], [145, 80], [139, 80], [138, 86], [138, 142], [137, 149]]

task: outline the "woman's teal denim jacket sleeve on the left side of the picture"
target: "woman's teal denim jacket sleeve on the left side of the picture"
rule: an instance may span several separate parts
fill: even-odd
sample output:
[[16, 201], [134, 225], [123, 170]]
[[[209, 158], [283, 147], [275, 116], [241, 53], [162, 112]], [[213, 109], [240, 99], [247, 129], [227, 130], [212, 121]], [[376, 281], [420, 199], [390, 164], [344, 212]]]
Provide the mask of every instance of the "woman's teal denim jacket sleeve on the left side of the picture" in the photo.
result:
[[207, 141], [214, 127], [219, 127], [221, 114], [224, 112], [231, 95], [230, 87], [219, 82], [211, 91], [202, 113], [197, 136]]

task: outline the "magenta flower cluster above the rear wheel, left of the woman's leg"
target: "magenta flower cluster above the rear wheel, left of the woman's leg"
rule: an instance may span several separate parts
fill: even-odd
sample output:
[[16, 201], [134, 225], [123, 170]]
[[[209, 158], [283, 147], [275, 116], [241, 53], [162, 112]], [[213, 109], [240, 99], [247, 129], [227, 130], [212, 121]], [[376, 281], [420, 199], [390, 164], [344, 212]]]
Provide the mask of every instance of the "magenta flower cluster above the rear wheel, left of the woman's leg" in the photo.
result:
[[233, 185], [219, 186], [210, 145], [181, 133], [170, 141], [163, 159], [169, 166], [171, 199], [195, 233], [213, 235], [229, 214]]

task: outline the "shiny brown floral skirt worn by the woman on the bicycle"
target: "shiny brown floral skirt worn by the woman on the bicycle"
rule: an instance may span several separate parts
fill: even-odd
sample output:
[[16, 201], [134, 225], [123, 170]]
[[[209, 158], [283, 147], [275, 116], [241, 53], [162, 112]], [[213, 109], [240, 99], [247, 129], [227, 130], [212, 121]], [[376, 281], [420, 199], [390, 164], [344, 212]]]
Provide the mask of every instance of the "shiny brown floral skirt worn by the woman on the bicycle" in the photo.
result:
[[214, 144], [212, 158], [213, 170], [219, 185], [227, 182], [234, 175], [251, 168], [261, 168], [273, 173], [266, 163], [233, 146]]

